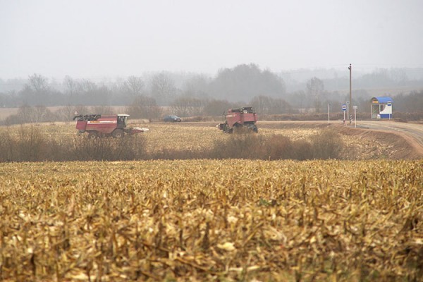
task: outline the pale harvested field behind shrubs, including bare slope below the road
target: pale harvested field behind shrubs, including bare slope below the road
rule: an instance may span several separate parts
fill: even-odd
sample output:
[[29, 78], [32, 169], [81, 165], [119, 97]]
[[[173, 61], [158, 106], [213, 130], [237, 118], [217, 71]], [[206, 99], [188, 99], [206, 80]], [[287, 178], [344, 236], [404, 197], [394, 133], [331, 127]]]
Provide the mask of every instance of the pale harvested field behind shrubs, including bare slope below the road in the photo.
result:
[[[76, 135], [74, 123], [44, 123], [37, 125], [25, 125], [24, 128], [32, 126], [32, 132], [39, 133], [45, 140], [54, 140], [56, 144], [75, 145], [80, 142], [82, 136]], [[149, 128], [147, 133], [140, 134], [140, 150], [151, 154], [153, 158], [161, 158], [168, 155], [168, 152], [180, 152], [180, 154], [197, 154], [204, 156], [203, 151], [212, 147], [219, 147], [233, 139], [233, 135], [221, 133], [214, 122], [192, 122], [192, 123], [140, 123], [130, 121], [129, 126], [140, 126]], [[343, 150], [341, 159], [419, 159], [422, 154], [415, 152], [403, 137], [391, 133], [376, 132], [365, 129], [343, 128], [337, 123], [316, 122], [283, 122], [283, 121], [262, 121], [259, 122], [259, 134], [257, 136], [271, 138], [272, 136], [286, 136], [290, 140], [309, 140], [322, 130], [330, 128], [341, 134]], [[20, 125], [10, 128], [0, 128], [0, 146], [5, 135], [21, 135]], [[6, 144], [7, 142], [4, 142]], [[75, 148], [77, 149], [77, 148]], [[176, 153], [176, 155], [178, 153]], [[1, 154], [0, 154], [1, 159]], [[44, 159], [38, 159], [44, 160]]]

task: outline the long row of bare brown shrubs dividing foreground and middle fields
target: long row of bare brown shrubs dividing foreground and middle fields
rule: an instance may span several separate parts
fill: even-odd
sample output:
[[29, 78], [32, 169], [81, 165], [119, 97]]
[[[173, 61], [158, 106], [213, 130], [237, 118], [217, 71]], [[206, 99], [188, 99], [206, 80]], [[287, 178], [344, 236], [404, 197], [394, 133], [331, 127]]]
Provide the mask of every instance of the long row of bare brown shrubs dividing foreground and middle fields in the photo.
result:
[[127, 161], [139, 159], [338, 159], [343, 148], [340, 135], [324, 130], [310, 142], [292, 141], [283, 135], [266, 137], [251, 130], [235, 130], [210, 149], [145, 151], [142, 135], [88, 139], [48, 137], [35, 125], [20, 126], [17, 133], [0, 131], [0, 161]]

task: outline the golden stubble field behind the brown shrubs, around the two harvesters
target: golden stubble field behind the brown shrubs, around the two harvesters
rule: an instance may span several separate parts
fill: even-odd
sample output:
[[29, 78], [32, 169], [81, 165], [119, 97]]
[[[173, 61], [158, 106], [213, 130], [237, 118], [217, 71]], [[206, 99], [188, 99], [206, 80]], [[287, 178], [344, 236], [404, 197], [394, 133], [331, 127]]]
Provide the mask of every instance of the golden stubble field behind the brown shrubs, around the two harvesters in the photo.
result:
[[[209, 149], [221, 142], [231, 140], [232, 135], [223, 134], [216, 128], [216, 122], [192, 122], [192, 123], [142, 123], [142, 121], [131, 121], [128, 127], [148, 128], [147, 133], [140, 133], [142, 138], [142, 149], [145, 152], [154, 154], [168, 151], [202, 151]], [[75, 122], [70, 123], [41, 123], [32, 126], [33, 130], [46, 137], [48, 140], [66, 142], [80, 140], [85, 135], [77, 136]], [[320, 133], [321, 130], [340, 128], [339, 123], [281, 123], [262, 121], [258, 123], [259, 136], [271, 137], [273, 135], [286, 136], [290, 140], [308, 140], [309, 137]], [[12, 134], [18, 134], [21, 125], [13, 125], [9, 128], [0, 128], [1, 133], [6, 130]], [[375, 135], [347, 135], [341, 133], [344, 149], [341, 153], [343, 159], [389, 159], [398, 152], [391, 141], [382, 140]], [[400, 148], [403, 149], [403, 148]]]

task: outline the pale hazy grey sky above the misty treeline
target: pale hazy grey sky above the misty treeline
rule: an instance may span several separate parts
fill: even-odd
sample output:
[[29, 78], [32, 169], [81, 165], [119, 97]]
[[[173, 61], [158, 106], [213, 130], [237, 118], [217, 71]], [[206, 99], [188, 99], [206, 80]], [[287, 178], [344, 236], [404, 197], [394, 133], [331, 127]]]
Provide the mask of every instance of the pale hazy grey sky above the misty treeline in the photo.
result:
[[0, 78], [423, 67], [422, 0], [0, 0]]

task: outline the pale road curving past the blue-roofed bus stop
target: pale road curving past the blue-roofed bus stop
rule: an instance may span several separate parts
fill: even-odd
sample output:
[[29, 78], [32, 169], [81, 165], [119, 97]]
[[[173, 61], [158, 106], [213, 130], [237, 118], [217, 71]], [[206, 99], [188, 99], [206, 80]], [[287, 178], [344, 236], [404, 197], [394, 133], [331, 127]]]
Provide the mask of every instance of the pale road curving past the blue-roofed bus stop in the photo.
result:
[[412, 137], [423, 147], [423, 125], [417, 123], [398, 123], [395, 121], [357, 121], [357, 128], [393, 131]]

